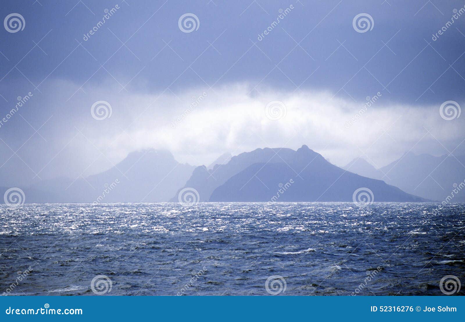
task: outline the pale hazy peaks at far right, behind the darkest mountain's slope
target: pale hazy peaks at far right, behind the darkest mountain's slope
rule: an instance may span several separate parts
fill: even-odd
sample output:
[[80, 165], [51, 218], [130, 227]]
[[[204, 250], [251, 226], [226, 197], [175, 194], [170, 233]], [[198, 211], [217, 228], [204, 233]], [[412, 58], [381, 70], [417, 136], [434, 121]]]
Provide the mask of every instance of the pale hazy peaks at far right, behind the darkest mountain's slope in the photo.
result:
[[[443, 201], [465, 180], [465, 155], [402, 155], [385, 167], [376, 169], [363, 158], [349, 162], [344, 169], [369, 178], [383, 180], [402, 190], [433, 201]], [[465, 191], [454, 194], [454, 202], [465, 201]]]

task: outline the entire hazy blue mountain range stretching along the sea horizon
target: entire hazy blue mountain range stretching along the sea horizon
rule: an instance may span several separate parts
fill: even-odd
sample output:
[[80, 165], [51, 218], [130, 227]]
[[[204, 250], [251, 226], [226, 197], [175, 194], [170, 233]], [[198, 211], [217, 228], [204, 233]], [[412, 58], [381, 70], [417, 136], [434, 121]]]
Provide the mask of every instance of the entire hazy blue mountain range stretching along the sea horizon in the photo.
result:
[[[100, 174], [19, 188], [27, 203], [178, 202], [189, 189], [198, 201], [352, 201], [359, 188], [368, 189], [374, 201], [442, 201], [453, 183], [465, 180], [464, 164], [464, 156], [407, 153], [379, 169], [363, 158], [339, 168], [304, 145], [297, 151], [226, 153], [208, 167], [194, 167], [166, 150], [148, 149]], [[455, 200], [465, 201], [464, 195]]]

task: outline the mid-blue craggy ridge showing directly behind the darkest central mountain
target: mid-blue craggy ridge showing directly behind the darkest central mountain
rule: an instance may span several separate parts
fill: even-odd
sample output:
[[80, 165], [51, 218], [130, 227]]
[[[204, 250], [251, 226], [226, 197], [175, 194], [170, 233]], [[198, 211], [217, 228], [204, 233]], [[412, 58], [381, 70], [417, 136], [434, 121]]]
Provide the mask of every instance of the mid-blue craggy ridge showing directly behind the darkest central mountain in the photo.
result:
[[258, 148], [233, 156], [226, 164], [216, 164], [208, 170], [205, 166], [194, 169], [191, 178], [180, 188], [170, 201], [178, 202], [179, 192], [183, 188], [194, 188], [199, 192], [199, 201], [209, 201], [213, 190], [226, 182], [233, 175], [257, 162], [276, 163], [289, 161], [295, 151], [288, 148]]

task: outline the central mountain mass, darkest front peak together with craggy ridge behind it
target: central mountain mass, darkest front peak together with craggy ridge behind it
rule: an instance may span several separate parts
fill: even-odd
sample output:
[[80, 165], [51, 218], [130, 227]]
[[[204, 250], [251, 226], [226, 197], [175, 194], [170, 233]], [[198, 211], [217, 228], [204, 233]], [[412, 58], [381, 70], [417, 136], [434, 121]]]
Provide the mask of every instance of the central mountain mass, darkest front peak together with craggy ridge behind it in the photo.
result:
[[338, 168], [306, 145], [297, 151], [256, 149], [210, 171], [198, 167], [186, 187], [195, 188], [200, 201], [352, 201], [359, 188], [370, 189], [375, 201], [424, 201]]

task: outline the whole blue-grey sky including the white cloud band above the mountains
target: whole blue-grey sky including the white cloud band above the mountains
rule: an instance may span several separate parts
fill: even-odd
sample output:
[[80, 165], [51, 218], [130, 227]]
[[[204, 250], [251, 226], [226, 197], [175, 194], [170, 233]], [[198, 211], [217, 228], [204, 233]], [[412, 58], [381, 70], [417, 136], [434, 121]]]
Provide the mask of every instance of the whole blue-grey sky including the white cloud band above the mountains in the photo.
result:
[[2, 0], [0, 174], [75, 178], [146, 148], [192, 165], [303, 144], [339, 166], [465, 154], [464, 5]]

